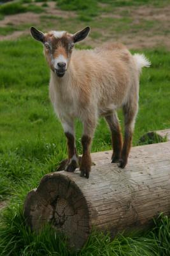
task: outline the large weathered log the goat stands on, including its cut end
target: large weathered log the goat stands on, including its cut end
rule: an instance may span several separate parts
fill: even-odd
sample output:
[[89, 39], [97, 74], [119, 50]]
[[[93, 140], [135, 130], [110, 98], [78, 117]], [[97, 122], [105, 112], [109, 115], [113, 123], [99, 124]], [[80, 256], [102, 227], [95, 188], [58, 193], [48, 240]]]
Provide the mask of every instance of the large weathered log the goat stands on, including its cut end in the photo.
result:
[[45, 175], [25, 199], [32, 230], [51, 223], [81, 248], [93, 227], [115, 235], [170, 214], [170, 141], [132, 148], [123, 170], [110, 159], [111, 151], [93, 153], [89, 179], [79, 171]]

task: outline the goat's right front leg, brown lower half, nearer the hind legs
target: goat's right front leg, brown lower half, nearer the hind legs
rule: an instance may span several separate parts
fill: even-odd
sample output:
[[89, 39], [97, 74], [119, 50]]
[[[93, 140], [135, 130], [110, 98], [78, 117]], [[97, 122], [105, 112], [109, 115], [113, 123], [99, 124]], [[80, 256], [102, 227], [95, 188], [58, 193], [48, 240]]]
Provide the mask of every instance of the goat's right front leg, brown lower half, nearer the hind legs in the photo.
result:
[[90, 148], [92, 144], [92, 137], [96, 127], [96, 118], [89, 118], [83, 122], [83, 136], [81, 138], [81, 144], [83, 147], [83, 156], [80, 164], [80, 176], [89, 179], [89, 173], [91, 170], [92, 159], [90, 156]]

